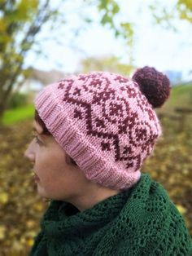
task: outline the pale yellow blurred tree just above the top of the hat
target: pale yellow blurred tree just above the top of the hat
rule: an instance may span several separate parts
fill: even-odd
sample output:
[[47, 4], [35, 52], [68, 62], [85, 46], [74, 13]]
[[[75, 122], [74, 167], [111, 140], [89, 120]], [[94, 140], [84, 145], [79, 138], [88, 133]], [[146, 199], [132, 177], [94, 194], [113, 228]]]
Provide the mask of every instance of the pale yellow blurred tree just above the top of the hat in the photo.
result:
[[125, 76], [133, 71], [135, 67], [131, 64], [122, 64], [120, 63], [120, 58], [116, 56], [101, 57], [95, 58], [90, 57], [81, 61], [81, 72], [88, 73], [90, 71], [109, 71], [114, 73], [121, 73]]

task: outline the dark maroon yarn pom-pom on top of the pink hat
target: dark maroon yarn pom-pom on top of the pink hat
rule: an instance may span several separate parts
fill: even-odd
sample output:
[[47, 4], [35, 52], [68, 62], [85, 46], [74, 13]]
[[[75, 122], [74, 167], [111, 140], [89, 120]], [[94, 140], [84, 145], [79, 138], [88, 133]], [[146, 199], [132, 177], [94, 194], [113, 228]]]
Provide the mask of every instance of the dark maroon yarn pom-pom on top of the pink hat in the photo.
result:
[[138, 68], [132, 77], [154, 108], [161, 107], [170, 95], [170, 82], [166, 75], [155, 68]]

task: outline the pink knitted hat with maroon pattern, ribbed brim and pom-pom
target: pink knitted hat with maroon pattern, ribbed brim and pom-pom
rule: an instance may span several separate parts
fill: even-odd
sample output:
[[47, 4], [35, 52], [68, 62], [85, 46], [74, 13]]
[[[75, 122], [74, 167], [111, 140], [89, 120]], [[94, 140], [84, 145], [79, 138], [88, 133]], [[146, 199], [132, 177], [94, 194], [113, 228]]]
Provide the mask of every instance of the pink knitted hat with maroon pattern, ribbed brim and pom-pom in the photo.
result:
[[137, 183], [161, 135], [154, 108], [169, 93], [168, 77], [155, 68], [137, 69], [132, 80], [94, 72], [46, 86], [35, 107], [87, 179], [124, 190]]

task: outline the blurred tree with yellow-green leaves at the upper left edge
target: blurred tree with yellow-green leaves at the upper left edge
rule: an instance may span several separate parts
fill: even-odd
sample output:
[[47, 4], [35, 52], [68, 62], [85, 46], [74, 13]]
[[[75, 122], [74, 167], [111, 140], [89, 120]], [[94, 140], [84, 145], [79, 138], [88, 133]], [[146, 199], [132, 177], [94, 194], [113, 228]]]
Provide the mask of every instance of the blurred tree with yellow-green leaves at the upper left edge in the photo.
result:
[[57, 15], [50, 0], [0, 0], [0, 120], [14, 86], [20, 86], [27, 73], [24, 57], [47, 20]]

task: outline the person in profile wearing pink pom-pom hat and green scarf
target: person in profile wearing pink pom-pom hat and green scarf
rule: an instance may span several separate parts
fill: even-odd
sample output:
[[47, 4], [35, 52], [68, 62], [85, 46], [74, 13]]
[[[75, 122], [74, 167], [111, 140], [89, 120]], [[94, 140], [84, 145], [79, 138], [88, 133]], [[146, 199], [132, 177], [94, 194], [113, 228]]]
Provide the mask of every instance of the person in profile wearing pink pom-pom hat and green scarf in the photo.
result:
[[[190, 255], [184, 219], [164, 188], [141, 174], [161, 135], [154, 108], [168, 77], [137, 69], [80, 74], [35, 99], [37, 192], [51, 199], [30, 255]], [[192, 255], [192, 254], [191, 254]]]

